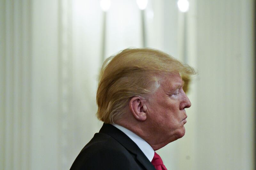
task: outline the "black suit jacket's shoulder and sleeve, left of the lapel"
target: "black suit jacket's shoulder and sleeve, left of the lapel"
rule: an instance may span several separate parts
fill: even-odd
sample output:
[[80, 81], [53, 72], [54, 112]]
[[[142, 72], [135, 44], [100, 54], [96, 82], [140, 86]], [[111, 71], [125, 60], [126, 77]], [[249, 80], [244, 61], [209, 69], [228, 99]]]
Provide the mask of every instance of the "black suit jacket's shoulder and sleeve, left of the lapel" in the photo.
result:
[[96, 133], [77, 156], [71, 169], [134, 169], [135, 155], [114, 138]]

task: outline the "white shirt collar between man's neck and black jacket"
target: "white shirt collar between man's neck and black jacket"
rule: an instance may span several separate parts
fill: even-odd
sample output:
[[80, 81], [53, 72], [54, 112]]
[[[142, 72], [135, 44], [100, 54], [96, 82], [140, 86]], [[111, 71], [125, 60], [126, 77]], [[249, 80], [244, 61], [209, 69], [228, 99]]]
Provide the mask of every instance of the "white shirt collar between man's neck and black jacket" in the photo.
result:
[[120, 126], [118, 124], [113, 124], [113, 126], [115, 126], [117, 129], [124, 132], [125, 135], [130, 137], [132, 141], [139, 146], [140, 150], [146, 155], [148, 160], [150, 162], [152, 161], [155, 151], [144, 139], [133, 133], [131, 130], [124, 128], [123, 126]]

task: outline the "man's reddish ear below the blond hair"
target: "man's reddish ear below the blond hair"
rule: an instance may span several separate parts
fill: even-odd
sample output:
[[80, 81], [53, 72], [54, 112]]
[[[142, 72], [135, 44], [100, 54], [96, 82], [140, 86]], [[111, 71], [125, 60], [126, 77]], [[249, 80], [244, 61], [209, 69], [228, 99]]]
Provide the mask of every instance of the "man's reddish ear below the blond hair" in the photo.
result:
[[135, 119], [139, 121], [145, 121], [147, 119], [147, 106], [140, 97], [132, 97], [129, 102], [129, 107]]

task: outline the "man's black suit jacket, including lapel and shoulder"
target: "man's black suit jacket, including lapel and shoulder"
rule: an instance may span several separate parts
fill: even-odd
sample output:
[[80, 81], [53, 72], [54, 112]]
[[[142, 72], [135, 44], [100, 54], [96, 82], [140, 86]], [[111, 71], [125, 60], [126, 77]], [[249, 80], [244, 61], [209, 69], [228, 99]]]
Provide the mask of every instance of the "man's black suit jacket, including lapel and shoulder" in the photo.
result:
[[99, 133], [84, 146], [71, 170], [155, 170], [140, 148], [121, 130], [103, 124]]

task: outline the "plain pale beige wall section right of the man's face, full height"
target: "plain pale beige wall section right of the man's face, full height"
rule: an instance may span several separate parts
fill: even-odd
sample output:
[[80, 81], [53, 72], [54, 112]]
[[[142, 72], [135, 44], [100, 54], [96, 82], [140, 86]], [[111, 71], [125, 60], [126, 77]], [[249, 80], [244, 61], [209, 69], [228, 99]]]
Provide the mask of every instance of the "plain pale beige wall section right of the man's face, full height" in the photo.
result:
[[197, 4], [197, 167], [253, 169], [252, 1]]

